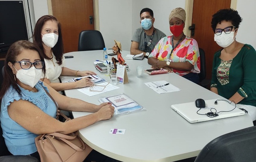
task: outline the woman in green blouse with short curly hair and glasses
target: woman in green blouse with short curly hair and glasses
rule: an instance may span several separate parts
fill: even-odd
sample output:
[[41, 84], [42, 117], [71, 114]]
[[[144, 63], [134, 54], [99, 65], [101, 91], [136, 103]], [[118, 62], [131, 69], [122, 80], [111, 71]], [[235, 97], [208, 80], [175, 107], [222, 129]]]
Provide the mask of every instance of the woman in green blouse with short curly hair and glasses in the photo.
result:
[[256, 51], [236, 41], [242, 18], [233, 9], [221, 9], [213, 15], [211, 27], [215, 42], [223, 47], [213, 59], [210, 90], [235, 102], [256, 120]]

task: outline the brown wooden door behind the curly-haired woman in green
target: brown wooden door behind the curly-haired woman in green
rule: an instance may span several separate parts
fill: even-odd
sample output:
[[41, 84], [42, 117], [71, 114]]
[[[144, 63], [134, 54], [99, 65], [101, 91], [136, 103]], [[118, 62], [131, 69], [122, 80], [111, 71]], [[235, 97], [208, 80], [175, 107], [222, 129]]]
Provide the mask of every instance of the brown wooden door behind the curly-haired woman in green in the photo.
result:
[[212, 77], [213, 56], [221, 49], [214, 41], [211, 28], [212, 15], [220, 9], [230, 8], [231, 0], [194, 0], [192, 24], [195, 24], [195, 35], [199, 48], [204, 49], [206, 58], [206, 78]]

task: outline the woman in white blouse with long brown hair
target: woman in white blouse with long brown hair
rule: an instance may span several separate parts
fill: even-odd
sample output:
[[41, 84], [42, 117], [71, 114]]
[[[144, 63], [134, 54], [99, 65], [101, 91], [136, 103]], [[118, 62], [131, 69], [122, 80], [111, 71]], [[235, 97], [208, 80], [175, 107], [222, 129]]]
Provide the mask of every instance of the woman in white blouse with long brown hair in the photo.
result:
[[60, 83], [59, 76], [87, 76], [96, 75], [93, 71], [72, 70], [65, 67], [63, 56], [63, 41], [61, 25], [56, 17], [45, 15], [38, 19], [33, 33], [33, 41], [43, 51], [46, 64], [44, 80], [56, 91], [82, 88], [93, 85], [89, 78], [83, 78], [72, 83]]

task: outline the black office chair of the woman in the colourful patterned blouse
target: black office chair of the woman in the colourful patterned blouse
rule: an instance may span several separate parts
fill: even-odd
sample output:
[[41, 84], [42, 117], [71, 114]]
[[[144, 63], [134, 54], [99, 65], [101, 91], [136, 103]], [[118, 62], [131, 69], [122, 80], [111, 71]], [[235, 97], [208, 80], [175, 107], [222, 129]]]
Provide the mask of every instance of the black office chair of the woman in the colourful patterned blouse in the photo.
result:
[[205, 60], [205, 53], [202, 48], [199, 48], [199, 53], [200, 53], [200, 73], [198, 74], [199, 76], [199, 81], [200, 85], [204, 88], [209, 88], [210, 86], [210, 79], [206, 79], [206, 60]]

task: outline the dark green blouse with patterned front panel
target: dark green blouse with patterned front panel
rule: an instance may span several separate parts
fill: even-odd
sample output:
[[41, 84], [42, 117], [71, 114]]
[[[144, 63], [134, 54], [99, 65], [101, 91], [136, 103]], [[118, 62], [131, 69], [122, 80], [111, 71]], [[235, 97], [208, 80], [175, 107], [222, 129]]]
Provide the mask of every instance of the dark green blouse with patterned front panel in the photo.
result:
[[[222, 49], [221, 49], [222, 50]], [[236, 92], [245, 97], [239, 104], [256, 106], [256, 51], [245, 44], [232, 60], [221, 60], [221, 50], [213, 59], [211, 87], [229, 99]]]

